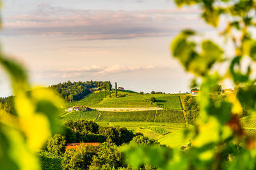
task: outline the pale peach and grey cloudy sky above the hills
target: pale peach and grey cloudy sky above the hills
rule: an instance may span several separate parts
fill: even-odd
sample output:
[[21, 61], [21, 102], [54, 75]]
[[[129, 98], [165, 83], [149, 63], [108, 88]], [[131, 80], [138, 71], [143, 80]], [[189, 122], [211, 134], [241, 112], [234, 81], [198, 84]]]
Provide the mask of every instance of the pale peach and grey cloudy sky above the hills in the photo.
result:
[[[3, 0], [3, 52], [33, 85], [108, 81], [137, 92], [189, 91], [191, 74], [170, 52], [182, 29], [212, 32], [198, 8], [168, 0]], [[12, 95], [0, 69], [0, 96]]]

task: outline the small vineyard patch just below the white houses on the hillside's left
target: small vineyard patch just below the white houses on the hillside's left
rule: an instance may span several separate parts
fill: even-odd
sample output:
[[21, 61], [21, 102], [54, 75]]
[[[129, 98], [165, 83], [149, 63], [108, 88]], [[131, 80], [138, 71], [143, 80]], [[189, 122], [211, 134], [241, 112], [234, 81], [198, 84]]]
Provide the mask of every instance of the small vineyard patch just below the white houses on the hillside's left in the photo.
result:
[[99, 115], [99, 111], [73, 111], [64, 117], [61, 117], [61, 121], [65, 122], [67, 120], [76, 120], [76, 119], [86, 119], [86, 120], [95, 120]]

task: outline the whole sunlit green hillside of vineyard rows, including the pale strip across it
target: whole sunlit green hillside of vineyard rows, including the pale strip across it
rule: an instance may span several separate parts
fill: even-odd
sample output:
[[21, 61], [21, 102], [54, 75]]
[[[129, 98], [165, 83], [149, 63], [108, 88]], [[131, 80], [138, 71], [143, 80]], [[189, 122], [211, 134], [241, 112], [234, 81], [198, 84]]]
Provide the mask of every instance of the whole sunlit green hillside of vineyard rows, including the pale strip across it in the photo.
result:
[[[106, 92], [104, 97], [103, 91], [93, 92], [80, 101], [67, 103], [66, 108], [89, 106], [97, 110], [64, 112], [61, 114], [61, 121], [83, 118], [93, 120], [99, 125], [126, 127], [134, 133], [143, 133], [149, 138], [159, 139], [161, 143], [168, 145], [173, 138], [181, 138], [180, 129], [188, 126], [180, 100], [184, 99], [184, 96], [183, 94], [141, 95], [126, 90], [118, 91], [118, 97], [115, 97], [113, 92], [111, 96]], [[151, 97], [155, 97], [156, 102], [150, 101]], [[188, 140], [184, 141], [186, 144], [188, 142]], [[178, 146], [175, 143], [170, 143], [171, 145]]]

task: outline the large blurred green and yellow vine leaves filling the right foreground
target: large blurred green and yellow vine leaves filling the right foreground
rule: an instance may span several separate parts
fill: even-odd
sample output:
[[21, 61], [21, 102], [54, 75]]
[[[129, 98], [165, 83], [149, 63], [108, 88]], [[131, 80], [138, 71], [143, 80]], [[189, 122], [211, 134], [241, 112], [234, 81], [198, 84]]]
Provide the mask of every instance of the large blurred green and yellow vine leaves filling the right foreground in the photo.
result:
[[[175, 3], [178, 6], [196, 4], [201, 17], [214, 27], [221, 17], [225, 18], [226, 27], [220, 35], [232, 43], [234, 52], [228, 55], [211, 39], [202, 40], [202, 34], [192, 30], [182, 31], [173, 39], [173, 57], [195, 75], [191, 85], [200, 86], [200, 115], [195, 121], [192, 118], [195, 127], [184, 131], [186, 136], [192, 134], [193, 146], [186, 153], [177, 149], [130, 147], [126, 150], [127, 162], [133, 167], [151, 164], [160, 169], [255, 169], [255, 136], [244, 135], [240, 117], [242, 106], [249, 117], [256, 114], [253, 76], [256, 40], [250, 32], [255, 29], [256, 2], [175, 0]], [[244, 60], [249, 62], [245, 64]], [[224, 73], [216, 70], [227, 64], [229, 67]], [[224, 80], [231, 80], [236, 89], [222, 98], [216, 85]]]

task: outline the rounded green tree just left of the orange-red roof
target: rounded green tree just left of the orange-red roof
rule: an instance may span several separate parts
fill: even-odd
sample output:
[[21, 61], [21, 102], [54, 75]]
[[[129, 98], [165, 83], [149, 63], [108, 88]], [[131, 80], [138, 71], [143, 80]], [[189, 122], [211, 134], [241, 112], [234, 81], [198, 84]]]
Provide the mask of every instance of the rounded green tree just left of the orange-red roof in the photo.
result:
[[47, 141], [48, 152], [56, 155], [62, 155], [65, 152], [66, 140], [61, 134], [54, 134], [54, 136]]

